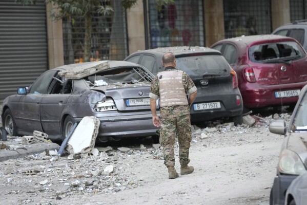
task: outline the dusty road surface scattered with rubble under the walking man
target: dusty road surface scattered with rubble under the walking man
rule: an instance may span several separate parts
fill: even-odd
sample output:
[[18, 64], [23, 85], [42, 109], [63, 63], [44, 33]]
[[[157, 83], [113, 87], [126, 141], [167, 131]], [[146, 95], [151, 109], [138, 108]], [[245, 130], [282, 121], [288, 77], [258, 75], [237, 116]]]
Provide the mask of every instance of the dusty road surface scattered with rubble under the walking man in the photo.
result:
[[168, 179], [160, 148], [144, 140], [79, 159], [7, 160], [0, 162], [1, 204], [269, 204], [282, 139], [267, 125], [194, 126], [195, 171], [176, 179]]

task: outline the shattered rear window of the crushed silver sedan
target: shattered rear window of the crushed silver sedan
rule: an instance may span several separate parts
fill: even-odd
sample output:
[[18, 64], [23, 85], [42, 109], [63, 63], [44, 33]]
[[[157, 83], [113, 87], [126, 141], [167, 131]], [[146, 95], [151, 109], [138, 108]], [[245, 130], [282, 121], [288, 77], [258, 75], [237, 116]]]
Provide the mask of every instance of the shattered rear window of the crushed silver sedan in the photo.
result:
[[107, 85], [146, 85], [152, 82], [150, 73], [138, 67], [112, 68], [88, 76], [85, 80], [92, 87]]

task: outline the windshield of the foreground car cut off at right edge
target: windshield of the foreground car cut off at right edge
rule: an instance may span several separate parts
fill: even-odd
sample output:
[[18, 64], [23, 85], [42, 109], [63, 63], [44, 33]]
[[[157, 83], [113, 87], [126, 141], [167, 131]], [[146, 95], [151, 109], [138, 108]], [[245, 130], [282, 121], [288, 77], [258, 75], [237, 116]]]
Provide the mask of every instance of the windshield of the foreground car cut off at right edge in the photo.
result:
[[291, 131], [307, 131], [307, 94], [305, 92], [294, 117]]

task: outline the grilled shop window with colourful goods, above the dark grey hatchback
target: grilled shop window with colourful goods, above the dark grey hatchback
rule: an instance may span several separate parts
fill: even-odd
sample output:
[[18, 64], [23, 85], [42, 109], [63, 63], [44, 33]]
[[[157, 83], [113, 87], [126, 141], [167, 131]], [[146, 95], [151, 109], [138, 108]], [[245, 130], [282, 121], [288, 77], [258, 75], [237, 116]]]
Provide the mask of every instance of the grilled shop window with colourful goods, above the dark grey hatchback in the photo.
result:
[[149, 0], [150, 48], [204, 46], [203, 5], [201, 0], [176, 0], [157, 10]]

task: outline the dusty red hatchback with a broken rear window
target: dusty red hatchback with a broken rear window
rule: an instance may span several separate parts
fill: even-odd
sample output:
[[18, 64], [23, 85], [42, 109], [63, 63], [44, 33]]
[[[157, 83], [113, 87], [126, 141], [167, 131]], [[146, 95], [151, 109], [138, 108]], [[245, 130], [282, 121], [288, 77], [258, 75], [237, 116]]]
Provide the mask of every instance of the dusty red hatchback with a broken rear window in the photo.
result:
[[307, 84], [307, 57], [293, 38], [250, 35], [216, 42], [238, 76], [245, 108], [295, 104]]

